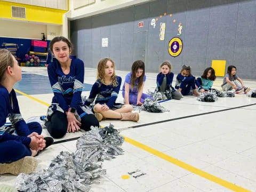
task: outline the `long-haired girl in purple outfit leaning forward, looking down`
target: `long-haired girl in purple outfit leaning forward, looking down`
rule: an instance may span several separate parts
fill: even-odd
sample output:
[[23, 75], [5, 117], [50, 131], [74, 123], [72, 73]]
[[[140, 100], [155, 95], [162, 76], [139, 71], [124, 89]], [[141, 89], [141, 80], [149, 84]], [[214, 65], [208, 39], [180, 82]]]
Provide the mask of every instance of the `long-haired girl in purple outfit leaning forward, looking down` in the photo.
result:
[[126, 104], [142, 105], [148, 94], [142, 93], [146, 81], [145, 63], [141, 60], [134, 61], [132, 72], [126, 75], [123, 86], [123, 98]]

